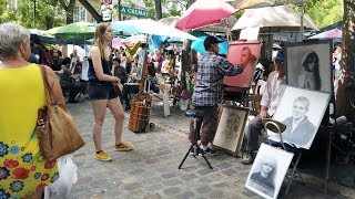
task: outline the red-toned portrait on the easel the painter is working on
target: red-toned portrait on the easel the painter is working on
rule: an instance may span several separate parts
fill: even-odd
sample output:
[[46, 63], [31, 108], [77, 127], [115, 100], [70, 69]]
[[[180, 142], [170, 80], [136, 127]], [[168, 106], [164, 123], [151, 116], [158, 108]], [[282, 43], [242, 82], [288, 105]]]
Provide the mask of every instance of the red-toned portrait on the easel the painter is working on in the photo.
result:
[[262, 42], [260, 40], [240, 40], [230, 42], [226, 59], [233, 64], [243, 64], [244, 71], [235, 76], [224, 76], [223, 84], [232, 87], [251, 87], [252, 77], [260, 57]]

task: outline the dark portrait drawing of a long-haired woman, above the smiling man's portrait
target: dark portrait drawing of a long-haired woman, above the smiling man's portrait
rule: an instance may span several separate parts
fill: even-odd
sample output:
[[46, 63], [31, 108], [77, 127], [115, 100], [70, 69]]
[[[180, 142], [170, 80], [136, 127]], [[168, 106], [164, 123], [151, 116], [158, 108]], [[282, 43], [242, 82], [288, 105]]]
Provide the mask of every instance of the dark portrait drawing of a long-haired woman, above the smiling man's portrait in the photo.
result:
[[325, 93], [333, 91], [332, 40], [286, 44], [287, 84]]

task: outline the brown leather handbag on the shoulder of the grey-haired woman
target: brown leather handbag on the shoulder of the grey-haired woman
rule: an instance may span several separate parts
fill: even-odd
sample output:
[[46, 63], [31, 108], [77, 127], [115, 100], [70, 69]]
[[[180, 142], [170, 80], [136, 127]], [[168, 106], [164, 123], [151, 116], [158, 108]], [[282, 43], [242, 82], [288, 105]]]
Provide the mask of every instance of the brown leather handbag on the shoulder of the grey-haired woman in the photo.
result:
[[65, 104], [55, 101], [48, 83], [45, 67], [39, 67], [42, 72], [47, 103], [38, 109], [37, 135], [43, 158], [53, 160], [78, 150], [85, 143]]

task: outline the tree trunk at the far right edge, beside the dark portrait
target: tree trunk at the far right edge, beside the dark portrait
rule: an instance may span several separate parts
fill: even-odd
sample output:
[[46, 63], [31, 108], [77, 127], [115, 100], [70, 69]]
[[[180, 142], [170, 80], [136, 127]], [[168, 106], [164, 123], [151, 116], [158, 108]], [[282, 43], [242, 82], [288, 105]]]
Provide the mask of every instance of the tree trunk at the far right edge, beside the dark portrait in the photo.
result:
[[355, 0], [344, 0], [343, 52], [336, 95], [336, 115], [355, 123]]

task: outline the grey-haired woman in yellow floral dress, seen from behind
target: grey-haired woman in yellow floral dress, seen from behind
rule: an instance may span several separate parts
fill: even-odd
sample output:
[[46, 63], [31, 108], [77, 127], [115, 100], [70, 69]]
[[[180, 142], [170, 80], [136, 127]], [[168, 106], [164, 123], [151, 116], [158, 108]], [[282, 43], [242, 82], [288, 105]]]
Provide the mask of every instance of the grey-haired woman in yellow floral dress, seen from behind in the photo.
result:
[[[0, 24], [0, 198], [41, 198], [59, 177], [45, 161], [36, 134], [37, 112], [45, 104], [42, 74], [28, 61], [30, 34], [16, 23]], [[64, 102], [54, 72], [45, 66], [58, 102]]]

